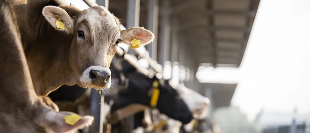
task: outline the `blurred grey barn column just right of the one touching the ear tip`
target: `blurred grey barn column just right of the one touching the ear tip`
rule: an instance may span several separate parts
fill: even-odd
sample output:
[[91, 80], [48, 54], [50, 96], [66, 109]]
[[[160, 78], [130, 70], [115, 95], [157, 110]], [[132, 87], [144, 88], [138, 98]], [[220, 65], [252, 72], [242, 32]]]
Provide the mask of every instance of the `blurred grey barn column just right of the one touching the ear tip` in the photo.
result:
[[164, 65], [165, 61], [169, 60], [170, 52], [170, 16], [169, 9], [170, 1], [163, 1], [163, 9], [160, 10], [160, 49], [159, 49], [159, 64]]

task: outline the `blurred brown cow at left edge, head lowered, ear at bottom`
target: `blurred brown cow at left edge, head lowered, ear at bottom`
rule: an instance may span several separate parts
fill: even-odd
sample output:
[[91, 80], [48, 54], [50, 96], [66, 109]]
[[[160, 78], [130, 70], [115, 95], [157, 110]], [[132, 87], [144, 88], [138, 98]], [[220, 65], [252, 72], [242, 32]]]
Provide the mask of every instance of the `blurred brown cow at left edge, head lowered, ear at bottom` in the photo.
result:
[[84, 116], [71, 126], [64, 117], [73, 113], [55, 112], [42, 104], [33, 88], [13, 5], [9, 0], [0, 0], [0, 20], [0, 131], [65, 133], [90, 124], [94, 118]]

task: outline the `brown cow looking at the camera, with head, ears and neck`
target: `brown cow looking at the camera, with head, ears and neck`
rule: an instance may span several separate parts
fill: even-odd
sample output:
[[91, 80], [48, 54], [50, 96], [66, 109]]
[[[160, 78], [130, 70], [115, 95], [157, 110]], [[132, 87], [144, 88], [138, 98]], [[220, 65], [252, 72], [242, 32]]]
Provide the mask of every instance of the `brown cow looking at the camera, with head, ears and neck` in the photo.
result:
[[[39, 96], [63, 84], [109, 88], [109, 66], [118, 43], [141, 45], [154, 34], [134, 27], [121, 31], [119, 20], [103, 6], [79, 10], [52, 5], [49, 0], [15, 0], [15, 11], [34, 88]], [[64, 29], [56, 27], [56, 21]]]

